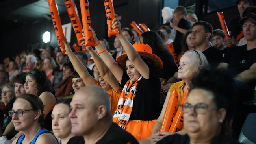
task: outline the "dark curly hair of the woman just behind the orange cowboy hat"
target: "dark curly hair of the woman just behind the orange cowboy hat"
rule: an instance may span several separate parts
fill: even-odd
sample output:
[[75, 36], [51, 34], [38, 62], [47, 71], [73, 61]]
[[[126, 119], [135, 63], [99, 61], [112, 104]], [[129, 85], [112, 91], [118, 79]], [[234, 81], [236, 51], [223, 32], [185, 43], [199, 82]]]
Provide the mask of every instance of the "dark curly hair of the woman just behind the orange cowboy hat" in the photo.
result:
[[155, 31], [146, 31], [141, 36], [143, 37], [143, 43], [152, 48], [153, 54], [160, 55], [162, 52], [167, 52], [163, 39]]

